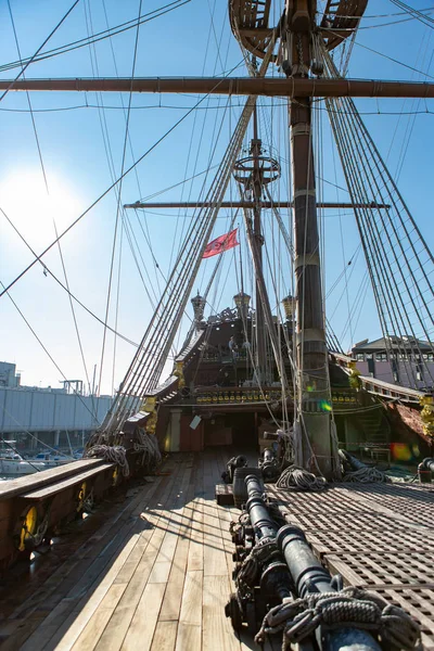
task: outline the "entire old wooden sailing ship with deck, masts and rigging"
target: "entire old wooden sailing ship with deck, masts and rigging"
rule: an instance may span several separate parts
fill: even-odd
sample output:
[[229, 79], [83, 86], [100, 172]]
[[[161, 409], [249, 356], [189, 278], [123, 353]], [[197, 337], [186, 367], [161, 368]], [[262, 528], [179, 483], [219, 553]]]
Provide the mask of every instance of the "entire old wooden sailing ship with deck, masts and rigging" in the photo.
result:
[[[375, 436], [384, 436], [388, 405], [399, 401], [400, 420], [419, 422], [426, 452], [420, 477], [430, 480], [433, 398], [417, 385], [360, 375], [327, 327], [311, 127], [312, 100], [326, 98], [384, 335], [412, 332], [418, 341], [419, 328], [431, 341], [433, 256], [352, 97], [427, 98], [434, 88], [340, 76], [330, 52], [353, 37], [367, 0], [329, 0], [319, 22], [315, 0], [288, 0], [277, 25], [270, 25], [270, 4], [229, 1], [248, 77], [158, 80], [158, 92], [247, 99], [88, 457], [0, 487], [4, 649], [241, 651], [254, 640], [267, 649], [283, 640], [284, 649], [302, 651], [434, 649], [431, 484], [342, 483], [339, 452], [352, 426], [367, 443], [385, 444]], [[285, 77], [267, 77], [275, 65]], [[9, 85], [28, 91], [95, 88], [144, 92], [155, 89], [155, 80]], [[263, 146], [259, 94], [289, 99], [293, 240], [269, 191], [282, 170]], [[242, 284], [232, 306], [207, 316], [207, 292], [195, 294], [195, 281], [232, 178], [239, 200], [230, 207], [244, 219], [255, 309]], [[295, 291], [283, 298], [283, 320], [272, 314], [264, 278], [265, 208], [275, 212], [293, 259]], [[394, 283], [400, 284], [397, 293]], [[194, 319], [162, 382], [189, 301]], [[412, 314], [403, 308], [408, 301], [418, 308]], [[265, 449], [273, 436], [284, 442], [283, 457]], [[247, 468], [243, 497], [235, 494], [235, 476], [232, 489], [220, 478], [240, 451], [245, 458], [232, 470]], [[157, 474], [138, 484], [162, 454]], [[283, 460], [310, 473], [318, 492], [264, 485], [267, 464], [276, 469]], [[128, 486], [133, 489], [119, 506], [113, 496]], [[93, 513], [104, 498], [105, 508]], [[65, 527], [74, 531], [64, 536]], [[16, 563], [35, 554], [34, 572]], [[347, 614], [333, 614], [328, 599], [347, 607]]]

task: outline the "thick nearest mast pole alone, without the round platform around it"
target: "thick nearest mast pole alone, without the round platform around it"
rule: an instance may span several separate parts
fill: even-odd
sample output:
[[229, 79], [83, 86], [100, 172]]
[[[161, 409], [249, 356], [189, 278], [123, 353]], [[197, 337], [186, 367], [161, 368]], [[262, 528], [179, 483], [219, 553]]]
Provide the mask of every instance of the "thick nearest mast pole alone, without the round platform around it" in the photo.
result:
[[[310, 31], [315, 20], [315, 2], [289, 0], [288, 29], [292, 43], [285, 62], [286, 74], [305, 77], [310, 66]], [[316, 470], [327, 478], [335, 475], [337, 451], [332, 444], [330, 384], [326, 346], [324, 315], [317, 224], [315, 162], [311, 143], [310, 98], [290, 102], [290, 135], [294, 201], [294, 241], [296, 278], [296, 361], [298, 370], [298, 419], [302, 441], [296, 446], [296, 463]], [[311, 448], [311, 449], [310, 449]]]

